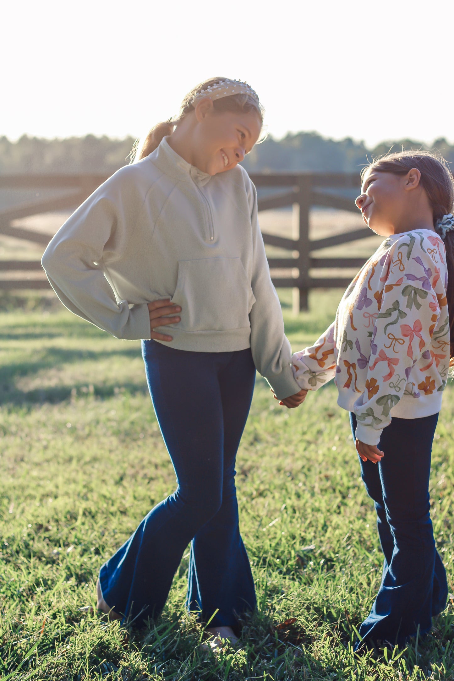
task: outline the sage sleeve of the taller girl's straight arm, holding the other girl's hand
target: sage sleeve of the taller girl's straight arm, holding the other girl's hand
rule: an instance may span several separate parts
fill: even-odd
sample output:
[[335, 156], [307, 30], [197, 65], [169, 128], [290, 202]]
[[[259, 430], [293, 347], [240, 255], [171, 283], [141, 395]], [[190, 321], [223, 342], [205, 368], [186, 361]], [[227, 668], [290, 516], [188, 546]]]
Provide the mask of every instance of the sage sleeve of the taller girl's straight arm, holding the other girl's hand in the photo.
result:
[[293, 377], [291, 347], [285, 336], [282, 309], [271, 281], [265, 246], [257, 219], [257, 193], [250, 194], [253, 229], [253, 273], [251, 287], [255, 302], [250, 310], [250, 347], [257, 370], [270, 383], [280, 399], [301, 390]]

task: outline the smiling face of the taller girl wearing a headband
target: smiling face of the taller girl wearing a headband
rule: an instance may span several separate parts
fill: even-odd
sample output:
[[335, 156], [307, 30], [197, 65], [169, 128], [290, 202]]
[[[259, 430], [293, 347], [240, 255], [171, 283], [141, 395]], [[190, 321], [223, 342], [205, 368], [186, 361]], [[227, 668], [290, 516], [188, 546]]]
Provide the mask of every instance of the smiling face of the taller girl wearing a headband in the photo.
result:
[[210, 175], [231, 170], [259, 139], [261, 118], [248, 112], [216, 112], [208, 97], [195, 107], [193, 165]]

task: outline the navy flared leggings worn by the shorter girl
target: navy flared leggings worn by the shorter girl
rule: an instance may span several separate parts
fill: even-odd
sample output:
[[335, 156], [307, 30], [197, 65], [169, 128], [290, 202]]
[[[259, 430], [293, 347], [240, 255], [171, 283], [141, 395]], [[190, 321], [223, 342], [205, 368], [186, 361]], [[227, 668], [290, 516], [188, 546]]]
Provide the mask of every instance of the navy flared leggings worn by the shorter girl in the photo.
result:
[[[351, 413], [353, 437], [357, 426]], [[432, 441], [438, 414], [391, 420], [378, 448], [378, 463], [361, 465], [361, 477], [375, 502], [378, 535], [385, 559], [380, 589], [370, 615], [359, 628], [364, 645], [404, 645], [407, 637], [432, 627], [444, 610], [446, 572], [435, 548], [429, 511]]]

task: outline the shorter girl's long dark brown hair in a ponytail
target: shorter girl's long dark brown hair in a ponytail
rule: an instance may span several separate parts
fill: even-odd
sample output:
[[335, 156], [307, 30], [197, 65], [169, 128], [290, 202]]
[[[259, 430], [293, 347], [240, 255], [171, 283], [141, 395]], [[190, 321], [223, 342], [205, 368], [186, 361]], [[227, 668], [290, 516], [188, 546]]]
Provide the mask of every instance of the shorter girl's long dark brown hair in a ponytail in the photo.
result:
[[[444, 215], [454, 210], [454, 180], [447, 162], [440, 155], [429, 151], [400, 151], [386, 154], [374, 159], [370, 165], [363, 168], [361, 177], [368, 170], [375, 172], [391, 172], [396, 175], [406, 175], [412, 168], [421, 172], [421, 186], [427, 194], [432, 206], [434, 227]], [[449, 313], [449, 333], [451, 336], [451, 348], [449, 357], [450, 366], [454, 366], [454, 232], [447, 232], [443, 240], [446, 249], [448, 286], [447, 302]]]

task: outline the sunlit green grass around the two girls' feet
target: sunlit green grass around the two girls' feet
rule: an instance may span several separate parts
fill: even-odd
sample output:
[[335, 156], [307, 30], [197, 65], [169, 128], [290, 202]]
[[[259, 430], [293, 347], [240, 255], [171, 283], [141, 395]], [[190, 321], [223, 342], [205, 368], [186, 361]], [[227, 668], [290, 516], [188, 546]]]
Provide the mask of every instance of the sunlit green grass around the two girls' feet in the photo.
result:
[[[291, 317], [295, 348], [331, 321], [339, 291]], [[430, 635], [376, 659], [352, 643], [380, 582], [374, 509], [332, 386], [287, 411], [257, 381], [238, 453], [242, 535], [259, 607], [242, 648], [198, 651], [184, 611], [187, 554], [150, 631], [80, 610], [97, 571], [175, 478], [146, 391], [139, 343], [39, 304], [0, 313], [0, 678], [453, 679], [454, 609]], [[454, 393], [432, 466], [432, 518], [452, 590]]]

